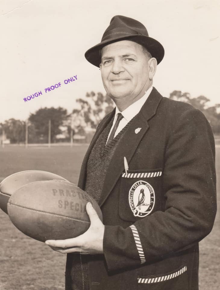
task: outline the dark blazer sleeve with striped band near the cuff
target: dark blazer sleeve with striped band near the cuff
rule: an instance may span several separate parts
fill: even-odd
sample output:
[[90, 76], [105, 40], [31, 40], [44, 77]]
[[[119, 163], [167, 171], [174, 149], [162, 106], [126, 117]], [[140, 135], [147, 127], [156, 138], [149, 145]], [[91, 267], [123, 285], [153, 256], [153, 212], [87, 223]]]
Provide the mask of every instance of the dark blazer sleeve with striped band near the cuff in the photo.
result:
[[165, 150], [165, 211], [124, 229], [105, 226], [109, 271], [152, 263], [184, 250], [212, 230], [216, 214], [215, 143], [200, 110], [190, 108], [174, 125]]

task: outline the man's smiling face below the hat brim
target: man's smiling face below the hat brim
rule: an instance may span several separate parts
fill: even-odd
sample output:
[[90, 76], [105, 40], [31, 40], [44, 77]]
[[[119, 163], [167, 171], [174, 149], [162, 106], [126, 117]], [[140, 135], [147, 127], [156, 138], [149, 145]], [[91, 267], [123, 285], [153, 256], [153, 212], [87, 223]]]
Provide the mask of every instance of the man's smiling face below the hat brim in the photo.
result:
[[103, 85], [114, 101], [123, 99], [130, 105], [151, 84], [148, 57], [138, 43], [122, 40], [103, 47], [101, 64]]

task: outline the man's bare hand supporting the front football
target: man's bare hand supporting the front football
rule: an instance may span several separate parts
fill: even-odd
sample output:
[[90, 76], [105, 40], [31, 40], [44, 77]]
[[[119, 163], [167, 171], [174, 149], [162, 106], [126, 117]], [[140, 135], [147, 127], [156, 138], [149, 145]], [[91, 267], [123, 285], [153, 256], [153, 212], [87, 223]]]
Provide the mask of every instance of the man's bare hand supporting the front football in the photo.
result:
[[90, 202], [86, 204], [90, 218], [90, 227], [82, 235], [66, 240], [47, 240], [45, 243], [60, 253], [100, 254], [103, 253], [103, 237], [105, 226], [99, 219]]

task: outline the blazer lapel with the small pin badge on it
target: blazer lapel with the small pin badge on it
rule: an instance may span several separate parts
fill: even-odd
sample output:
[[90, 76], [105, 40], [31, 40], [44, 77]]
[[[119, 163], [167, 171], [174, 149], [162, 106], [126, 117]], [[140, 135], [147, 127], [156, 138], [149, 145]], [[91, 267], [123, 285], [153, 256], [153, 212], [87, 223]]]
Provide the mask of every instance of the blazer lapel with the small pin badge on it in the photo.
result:
[[148, 120], [156, 114], [156, 110], [161, 99], [162, 96], [155, 88], [153, 88], [140, 112], [136, 117], [134, 117], [125, 134], [119, 140], [106, 172], [101, 198], [99, 201], [100, 206], [102, 206], [108, 198], [108, 195], [111, 193], [116, 182], [124, 171], [124, 156], [129, 163], [137, 149], [138, 144], [146, 134], [146, 131], [149, 128]]

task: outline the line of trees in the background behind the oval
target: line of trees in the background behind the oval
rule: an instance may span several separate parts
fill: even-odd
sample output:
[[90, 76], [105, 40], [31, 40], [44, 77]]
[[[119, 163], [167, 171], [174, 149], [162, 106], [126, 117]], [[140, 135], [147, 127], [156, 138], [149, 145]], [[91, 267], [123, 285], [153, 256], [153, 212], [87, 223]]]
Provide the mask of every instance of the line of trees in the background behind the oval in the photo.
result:
[[[200, 109], [211, 124], [214, 134], [220, 133], [219, 117], [220, 104], [208, 107], [209, 99], [203, 95], [193, 98], [187, 92], [173, 91], [169, 98], [190, 103]], [[51, 122], [51, 142], [58, 140], [69, 141], [72, 135], [86, 135], [96, 129], [99, 122], [114, 108], [114, 103], [108, 95], [98, 92], [86, 93], [85, 98], [78, 98], [78, 107], [68, 114], [65, 108], [40, 108], [30, 114], [27, 121], [11, 118], [0, 123], [0, 135], [4, 130], [5, 136], [11, 143], [24, 143], [28, 127], [28, 143], [48, 142], [49, 120]], [[92, 133], [92, 134], [93, 134]], [[61, 138], [58, 139], [58, 136]], [[63, 137], [63, 138], [62, 138]]]

